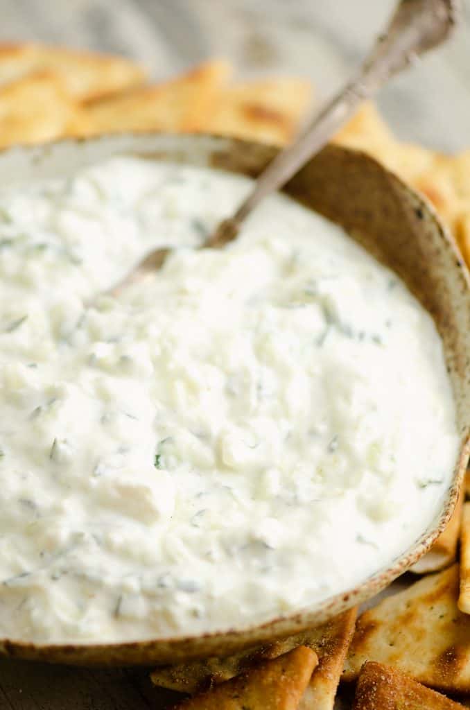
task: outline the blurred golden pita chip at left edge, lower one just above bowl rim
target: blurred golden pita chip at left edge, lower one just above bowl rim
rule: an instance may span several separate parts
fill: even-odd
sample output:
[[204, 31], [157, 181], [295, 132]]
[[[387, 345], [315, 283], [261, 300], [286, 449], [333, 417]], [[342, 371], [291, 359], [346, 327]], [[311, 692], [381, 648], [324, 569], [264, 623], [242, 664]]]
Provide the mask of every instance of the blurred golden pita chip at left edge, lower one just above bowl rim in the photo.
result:
[[58, 138], [79, 111], [48, 72], [0, 87], [0, 147]]

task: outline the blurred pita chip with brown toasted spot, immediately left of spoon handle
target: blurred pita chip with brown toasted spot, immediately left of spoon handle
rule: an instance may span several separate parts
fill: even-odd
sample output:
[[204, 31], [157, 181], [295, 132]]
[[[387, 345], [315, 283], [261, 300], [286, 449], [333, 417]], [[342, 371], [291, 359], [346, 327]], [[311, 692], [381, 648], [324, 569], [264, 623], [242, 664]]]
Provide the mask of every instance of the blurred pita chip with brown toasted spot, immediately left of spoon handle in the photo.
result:
[[311, 99], [312, 86], [302, 79], [232, 84], [214, 97], [200, 129], [283, 146], [300, 128]]

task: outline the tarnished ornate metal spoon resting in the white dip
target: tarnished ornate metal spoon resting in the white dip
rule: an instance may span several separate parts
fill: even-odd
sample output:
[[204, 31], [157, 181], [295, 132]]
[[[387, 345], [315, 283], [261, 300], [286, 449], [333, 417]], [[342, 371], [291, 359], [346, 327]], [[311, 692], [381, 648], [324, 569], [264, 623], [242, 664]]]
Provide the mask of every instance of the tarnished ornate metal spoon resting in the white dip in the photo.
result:
[[[241, 222], [258, 203], [285, 185], [346, 123], [364, 99], [373, 97], [390, 77], [447, 39], [457, 24], [459, 9], [460, 0], [401, 0], [356, 77], [319, 111], [294, 143], [276, 155], [233, 217], [221, 222], [202, 248], [219, 249], [234, 239]], [[160, 268], [172, 251], [171, 248], [151, 251], [106, 293], [116, 295], [148, 271]]]

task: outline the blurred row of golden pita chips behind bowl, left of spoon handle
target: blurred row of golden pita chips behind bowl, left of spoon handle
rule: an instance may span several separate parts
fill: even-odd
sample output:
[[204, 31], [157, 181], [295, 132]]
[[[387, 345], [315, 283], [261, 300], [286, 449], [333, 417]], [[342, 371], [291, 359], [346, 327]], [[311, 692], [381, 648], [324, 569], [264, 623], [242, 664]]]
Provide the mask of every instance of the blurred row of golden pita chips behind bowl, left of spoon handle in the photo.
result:
[[310, 103], [310, 82], [231, 82], [227, 62], [148, 84], [121, 57], [0, 45], [0, 146], [123, 131], [203, 131], [282, 145]]

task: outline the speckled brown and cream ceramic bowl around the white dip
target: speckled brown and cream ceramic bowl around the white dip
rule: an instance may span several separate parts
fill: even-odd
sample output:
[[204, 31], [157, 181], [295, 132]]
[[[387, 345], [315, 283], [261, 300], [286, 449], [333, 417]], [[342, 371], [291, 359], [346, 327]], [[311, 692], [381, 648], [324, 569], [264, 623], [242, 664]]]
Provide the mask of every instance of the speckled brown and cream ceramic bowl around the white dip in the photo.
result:
[[[70, 174], [116, 154], [212, 166], [256, 177], [275, 155], [257, 143], [212, 136], [114, 136], [63, 141], [0, 154], [0, 190]], [[439, 514], [386, 569], [355, 589], [262, 626], [226, 633], [113, 645], [33, 645], [0, 640], [0, 655], [76, 664], [126, 665], [179, 662], [234, 650], [296, 633], [327, 621], [383, 589], [421, 557], [447, 523], [469, 457], [470, 290], [469, 274], [456, 246], [432, 207], [363, 153], [327, 146], [285, 187], [310, 209], [337, 222], [408, 285], [431, 313], [444, 343], [457, 406], [461, 450], [452, 485], [437, 501]]]

